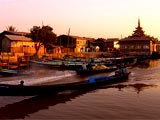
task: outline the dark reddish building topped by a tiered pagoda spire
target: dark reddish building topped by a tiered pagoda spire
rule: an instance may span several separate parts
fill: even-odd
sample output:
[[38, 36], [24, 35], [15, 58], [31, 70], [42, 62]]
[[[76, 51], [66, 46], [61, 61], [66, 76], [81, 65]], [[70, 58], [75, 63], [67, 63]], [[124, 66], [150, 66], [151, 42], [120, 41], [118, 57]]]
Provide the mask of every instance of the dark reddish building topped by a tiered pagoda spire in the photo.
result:
[[154, 37], [144, 34], [138, 19], [138, 26], [133, 34], [119, 40], [120, 52], [124, 55], [152, 55], [156, 52], [157, 41]]

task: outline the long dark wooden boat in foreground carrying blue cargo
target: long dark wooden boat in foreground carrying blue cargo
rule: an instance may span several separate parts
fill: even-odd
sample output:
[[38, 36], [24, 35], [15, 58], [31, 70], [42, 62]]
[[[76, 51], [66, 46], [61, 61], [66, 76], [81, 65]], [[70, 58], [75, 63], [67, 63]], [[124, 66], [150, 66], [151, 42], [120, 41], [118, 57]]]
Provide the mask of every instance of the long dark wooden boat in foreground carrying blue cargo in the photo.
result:
[[130, 73], [125, 73], [120, 76], [112, 75], [91, 77], [85, 81], [54, 85], [25, 86], [22, 84], [0, 84], [0, 96], [49, 96], [66, 90], [95, 89], [99, 86], [104, 86], [126, 80], [128, 79], [129, 74]]

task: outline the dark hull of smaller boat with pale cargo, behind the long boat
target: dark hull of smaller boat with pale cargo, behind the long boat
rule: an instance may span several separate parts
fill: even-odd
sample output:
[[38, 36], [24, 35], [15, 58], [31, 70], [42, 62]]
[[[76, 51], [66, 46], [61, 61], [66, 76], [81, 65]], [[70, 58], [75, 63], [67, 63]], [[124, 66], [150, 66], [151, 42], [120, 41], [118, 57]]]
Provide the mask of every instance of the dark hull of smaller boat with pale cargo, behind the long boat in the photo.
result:
[[104, 72], [112, 72], [117, 70], [117, 67], [107, 67], [105, 69], [77, 69], [76, 72], [78, 75], [91, 75], [91, 74], [97, 74], [97, 73], [104, 73]]

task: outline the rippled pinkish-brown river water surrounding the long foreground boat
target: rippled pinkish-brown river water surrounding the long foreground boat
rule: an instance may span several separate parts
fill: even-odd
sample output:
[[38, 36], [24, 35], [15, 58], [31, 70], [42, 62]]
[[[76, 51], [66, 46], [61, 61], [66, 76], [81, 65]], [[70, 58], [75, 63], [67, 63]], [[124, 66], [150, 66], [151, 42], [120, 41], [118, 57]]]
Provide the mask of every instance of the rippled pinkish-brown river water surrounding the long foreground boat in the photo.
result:
[[[159, 119], [160, 60], [145, 61], [129, 70], [128, 81], [92, 91], [51, 97], [0, 97], [0, 119]], [[0, 78], [0, 82], [16, 84], [23, 79], [26, 84], [51, 84], [89, 78], [74, 71], [32, 68], [34, 71], [31, 76]]]

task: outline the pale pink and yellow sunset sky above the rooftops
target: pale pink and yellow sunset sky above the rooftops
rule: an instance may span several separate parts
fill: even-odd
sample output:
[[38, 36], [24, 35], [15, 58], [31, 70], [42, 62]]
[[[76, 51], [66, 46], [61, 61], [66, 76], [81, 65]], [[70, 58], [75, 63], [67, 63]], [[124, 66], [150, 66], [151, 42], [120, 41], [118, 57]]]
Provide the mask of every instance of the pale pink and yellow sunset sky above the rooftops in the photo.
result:
[[0, 0], [0, 32], [30, 32], [49, 25], [57, 35], [124, 38], [138, 18], [145, 34], [160, 40], [160, 0]]

